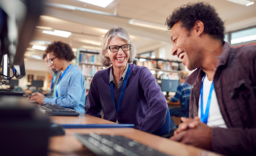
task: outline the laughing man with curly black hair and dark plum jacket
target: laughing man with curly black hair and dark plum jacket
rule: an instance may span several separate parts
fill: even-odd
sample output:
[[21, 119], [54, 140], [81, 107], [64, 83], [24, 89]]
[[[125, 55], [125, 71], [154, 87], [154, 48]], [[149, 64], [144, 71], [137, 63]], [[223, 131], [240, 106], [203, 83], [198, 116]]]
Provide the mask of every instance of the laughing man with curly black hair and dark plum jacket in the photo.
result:
[[177, 55], [189, 70], [190, 118], [170, 139], [225, 155], [256, 154], [256, 46], [224, 42], [224, 22], [208, 3], [167, 17]]

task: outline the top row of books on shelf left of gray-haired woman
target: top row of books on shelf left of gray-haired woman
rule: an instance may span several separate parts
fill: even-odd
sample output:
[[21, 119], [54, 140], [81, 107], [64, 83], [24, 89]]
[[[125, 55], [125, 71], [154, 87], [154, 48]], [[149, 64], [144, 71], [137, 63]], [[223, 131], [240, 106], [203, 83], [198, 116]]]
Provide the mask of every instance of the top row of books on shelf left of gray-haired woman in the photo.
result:
[[85, 53], [85, 52], [80, 52], [79, 62], [90, 63], [90, 64], [100, 63], [98, 54], [91, 54], [91, 53]]

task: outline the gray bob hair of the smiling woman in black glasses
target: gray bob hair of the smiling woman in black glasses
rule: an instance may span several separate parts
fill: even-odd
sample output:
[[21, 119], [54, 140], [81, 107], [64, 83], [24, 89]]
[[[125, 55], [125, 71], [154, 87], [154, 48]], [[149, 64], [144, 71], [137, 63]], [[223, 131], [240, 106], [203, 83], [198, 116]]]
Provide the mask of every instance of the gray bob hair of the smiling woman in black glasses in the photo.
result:
[[131, 45], [131, 49], [130, 49], [130, 56], [129, 56], [129, 60], [128, 63], [131, 63], [132, 61], [134, 61], [135, 59], [135, 55], [136, 55], [136, 48], [134, 47], [130, 35], [129, 33], [120, 26], [115, 26], [113, 28], [111, 28], [106, 35], [103, 37], [102, 42], [101, 42], [101, 53], [100, 53], [100, 62], [103, 66], [110, 66], [112, 64], [112, 62], [110, 61], [109, 57], [107, 57], [105, 55], [105, 52], [107, 51], [107, 46], [108, 46], [108, 42], [110, 41], [110, 39], [112, 37], [118, 36], [126, 41], [128, 41], [128, 44]]

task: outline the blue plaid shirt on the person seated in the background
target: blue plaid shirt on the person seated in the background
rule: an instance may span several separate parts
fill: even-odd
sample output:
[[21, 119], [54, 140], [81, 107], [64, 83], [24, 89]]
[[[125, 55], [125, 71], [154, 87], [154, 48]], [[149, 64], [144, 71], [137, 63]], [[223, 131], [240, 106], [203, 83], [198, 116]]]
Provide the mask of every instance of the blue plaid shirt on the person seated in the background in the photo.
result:
[[190, 97], [190, 92], [191, 86], [186, 82], [183, 82], [178, 85], [176, 94], [172, 98], [170, 98], [170, 101], [177, 102], [178, 100], [180, 100], [180, 104], [184, 105], [186, 97]]

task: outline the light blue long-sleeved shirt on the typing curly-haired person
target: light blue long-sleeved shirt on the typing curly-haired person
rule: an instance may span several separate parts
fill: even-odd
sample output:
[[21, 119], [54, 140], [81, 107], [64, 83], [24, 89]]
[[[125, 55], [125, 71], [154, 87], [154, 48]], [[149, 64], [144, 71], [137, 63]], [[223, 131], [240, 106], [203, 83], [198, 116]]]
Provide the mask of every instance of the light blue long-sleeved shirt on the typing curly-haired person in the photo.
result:
[[[58, 86], [58, 88], [57, 88]], [[56, 89], [58, 97], [56, 97]], [[85, 113], [85, 80], [78, 66], [70, 66], [65, 75], [55, 85], [51, 98], [45, 98], [44, 103], [52, 105], [70, 106], [71, 109]]]

